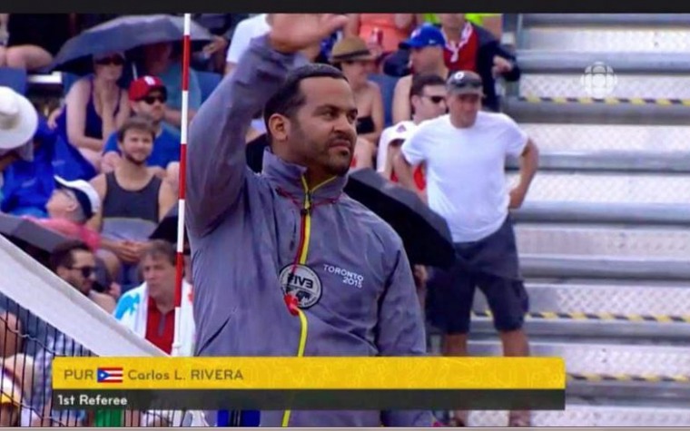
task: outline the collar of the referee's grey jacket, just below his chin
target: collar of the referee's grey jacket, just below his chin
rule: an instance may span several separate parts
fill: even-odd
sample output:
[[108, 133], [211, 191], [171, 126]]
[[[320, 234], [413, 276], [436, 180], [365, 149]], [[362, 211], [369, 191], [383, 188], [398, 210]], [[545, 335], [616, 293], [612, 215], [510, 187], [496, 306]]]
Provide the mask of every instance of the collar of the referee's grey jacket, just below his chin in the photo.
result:
[[[279, 192], [287, 193], [291, 197], [303, 197], [307, 192], [307, 184], [304, 174], [307, 168], [297, 164], [285, 162], [270, 149], [263, 152], [262, 174], [271, 182]], [[329, 181], [311, 188], [311, 197], [314, 200], [337, 200], [348, 182], [348, 176], [333, 177]]]

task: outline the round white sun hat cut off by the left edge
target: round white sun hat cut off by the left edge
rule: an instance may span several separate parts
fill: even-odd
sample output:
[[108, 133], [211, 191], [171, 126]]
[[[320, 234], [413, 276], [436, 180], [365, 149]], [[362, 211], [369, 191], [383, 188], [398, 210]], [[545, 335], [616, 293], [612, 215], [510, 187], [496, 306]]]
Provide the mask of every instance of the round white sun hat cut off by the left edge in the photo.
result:
[[38, 113], [23, 95], [0, 86], [0, 149], [14, 150], [31, 141], [38, 128]]

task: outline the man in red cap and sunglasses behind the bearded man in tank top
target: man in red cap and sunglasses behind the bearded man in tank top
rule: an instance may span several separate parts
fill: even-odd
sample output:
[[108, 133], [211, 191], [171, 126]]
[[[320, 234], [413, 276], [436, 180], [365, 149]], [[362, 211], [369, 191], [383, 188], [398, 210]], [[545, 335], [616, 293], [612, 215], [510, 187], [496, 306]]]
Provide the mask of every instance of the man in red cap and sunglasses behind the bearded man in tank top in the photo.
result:
[[[135, 115], [148, 117], [155, 126], [153, 151], [146, 164], [156, 175], [163, 178], [173, 162], [180, 162], [180, 140], [163, 128], [168, 93], [165, 84], [157, 76], [143, 76], [133, 81], [129, 88], [129, 101]], [[117, 132], [105, 143], [101, 171], [112, 172], [120, 162], [122, 153], [117, 145]]]

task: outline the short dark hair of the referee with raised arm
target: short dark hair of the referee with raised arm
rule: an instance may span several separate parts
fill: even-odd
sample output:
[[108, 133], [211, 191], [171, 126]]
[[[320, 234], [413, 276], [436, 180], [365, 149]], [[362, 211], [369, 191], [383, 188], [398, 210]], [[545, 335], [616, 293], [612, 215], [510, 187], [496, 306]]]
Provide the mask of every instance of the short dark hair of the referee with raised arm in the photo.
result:
[[333, 78], [348, 81], [342, 71], [330, 64], [305, 64], [288, 73], [281, 88], [271, 96], [263, 108], [263, 122], [266, 124], [266, 136], [269, 142], [271, 142], [271, 130], [269, 129], [271, 115], [280, 113], [292, 118], [295, 112], [306, 102], [300, 84], [305, 79], [310, 78]]

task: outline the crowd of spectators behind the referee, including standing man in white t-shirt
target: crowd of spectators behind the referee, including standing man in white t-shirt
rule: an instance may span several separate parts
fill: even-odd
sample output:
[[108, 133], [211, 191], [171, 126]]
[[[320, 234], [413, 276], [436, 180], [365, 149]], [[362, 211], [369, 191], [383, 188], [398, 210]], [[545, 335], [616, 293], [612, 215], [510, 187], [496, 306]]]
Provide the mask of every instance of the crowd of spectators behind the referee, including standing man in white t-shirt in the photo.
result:
[[[31, 94], [3, 81], [10, 70], [44, 73], [70, 37], [113, 17], [0, 14], [0, 211], [69, 239], [52, 252], [48, 268], [171, 353], [174, 239], [151, 236], [175, 206], [179, 190], [182, 44], [94, 53], [89, 73], [63, 74], [59, 106], [49, 112], [29, 102]], [[516, 57], [501, 43], [501, 16], [348, 18], [339, 32], [301, 54], [311, 63], [333, 65], [350, 83], [358, 135], [351, 170], [371, 168], [415, 191], [446, 218], [458, 256], [467, 258], [464, 267], [450, 272], [413, 267], [420, 307], [448, 336], [443, 353], [467, 355], [476, 285], [497, 316], [506, 354], [528, 355], [521, 330], [527, 293], [518, 276], [508, 211], [525, 199], [537, 149], [500, 113], [501, 83], [520, 77]], [[192, 53], [191, 121], [222, 76], [236, 70], [251, 41], [271, 31], [273, 15], [197, 14], [192, 19], [212, 39]], [[262, 151], [256, 149], [269, 145], [267, 124], [261, 112], [253, 117], [246, 143], [254, 151], [247, 152], [247, 162], [261, 171]], [[523, 159], [513, 191], [505, 190], [506, 156]], [[508, 251], [501, 251], [506, 244]], [[191, 301], [188, 249], [187, 244], [184, 289]], [[434, 286], [446, 285], [461, 286], [433, 294]], [[51, 412], [49, 397], [36, 392], [50, 387], [51, 358], [74, 354], [71, 340], [56, 334], [44, 348], [30, 351], [22, 345], [27, 330], [23, 317], [6, 307], [0, 318], [2, 426], [50, 426], [51, 417], [62, 420]], [[184, 354], [192, 355], [193, 322], [187, 322], [185, 334]], [[29, 381], [17, 374], [16, 364], [25, 362], [43, 375]], [[37, 401], [23, 401], [32, 393]], [[453, 424], [466, 425], [465, 415], [455, 412]], [[83, 413], [71, 417], [75, 426], [93, 419]], [[510, 425], [528, 424], [525, 414], [511, 416]]]

